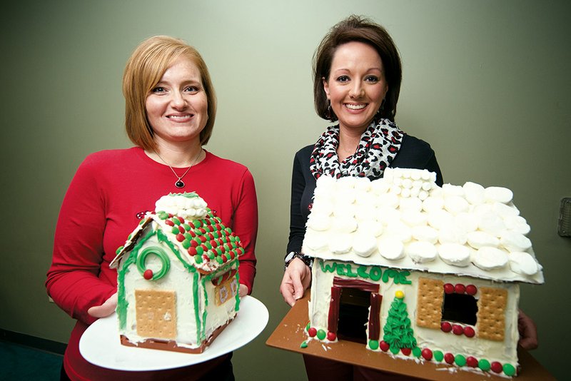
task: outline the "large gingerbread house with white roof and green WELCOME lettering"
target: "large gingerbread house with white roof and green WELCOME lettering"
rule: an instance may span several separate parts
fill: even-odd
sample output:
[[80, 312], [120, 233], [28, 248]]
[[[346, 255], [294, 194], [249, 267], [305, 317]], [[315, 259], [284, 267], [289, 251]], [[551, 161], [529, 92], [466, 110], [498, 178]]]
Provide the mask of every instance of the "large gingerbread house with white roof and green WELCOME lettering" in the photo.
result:
[[322, 176], [303, 241], [308, 336], [515, 375], [519, 284], [543, 283], [529, 231], [507, 188]]

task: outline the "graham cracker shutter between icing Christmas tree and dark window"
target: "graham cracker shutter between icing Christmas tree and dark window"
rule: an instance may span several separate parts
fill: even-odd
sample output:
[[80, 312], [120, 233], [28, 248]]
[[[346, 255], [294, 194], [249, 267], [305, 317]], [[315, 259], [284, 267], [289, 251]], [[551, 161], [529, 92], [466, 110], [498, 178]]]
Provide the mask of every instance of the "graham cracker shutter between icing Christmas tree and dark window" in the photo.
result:
[[419, 278], [416, 310], [416, 325], [440, 330], [443, 306], [442, 280]]

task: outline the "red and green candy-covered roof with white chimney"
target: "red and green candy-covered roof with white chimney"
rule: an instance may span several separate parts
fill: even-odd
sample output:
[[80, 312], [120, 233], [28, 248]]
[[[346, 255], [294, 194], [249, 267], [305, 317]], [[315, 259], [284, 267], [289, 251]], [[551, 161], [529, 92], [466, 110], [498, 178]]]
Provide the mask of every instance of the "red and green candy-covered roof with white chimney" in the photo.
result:
[[124, 253], [132, 250], [148, 226], [161, 230], [179, 258], [201, 273], [212, 273], [244, 253], [238, 235], [226, 227], [196, 193], [171, 193], [156, 203], [156, 212], [147, 213], [129, 235], [125, 245], [117, 249], [110, 264], [116, 268]]

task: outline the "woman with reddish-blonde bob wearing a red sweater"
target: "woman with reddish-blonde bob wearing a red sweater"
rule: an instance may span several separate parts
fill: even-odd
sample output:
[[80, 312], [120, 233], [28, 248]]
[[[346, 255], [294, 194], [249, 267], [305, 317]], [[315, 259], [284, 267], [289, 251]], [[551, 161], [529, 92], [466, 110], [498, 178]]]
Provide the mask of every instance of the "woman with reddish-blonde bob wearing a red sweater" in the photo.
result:
[[117, 303], [116, 249], [146, 211], [168, 193], [196, 191], [240, 236], [240, 296], [256, 275], [258, 206], [253, 177], [239, 163], [203, 149], [216, 117], [216, 95], [198, 51], [168, 36], [146, 39], [123, 75], [126, 131], [132, 148], [93, 153], [81, 163], [61, 205], [46, 288], [77, 320], [62, 380], [233, 380], [231, 353], [189, 367], [121, 372], [87, 362], [79, 339]]

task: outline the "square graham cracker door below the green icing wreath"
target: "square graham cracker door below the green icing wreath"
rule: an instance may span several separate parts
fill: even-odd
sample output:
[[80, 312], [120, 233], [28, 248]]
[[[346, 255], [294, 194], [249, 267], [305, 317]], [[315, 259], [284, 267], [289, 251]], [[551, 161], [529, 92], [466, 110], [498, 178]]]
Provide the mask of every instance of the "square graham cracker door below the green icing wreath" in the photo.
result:
[[176, 293], [135, 290], [137, 335], [157, 339], [176, 338]]

